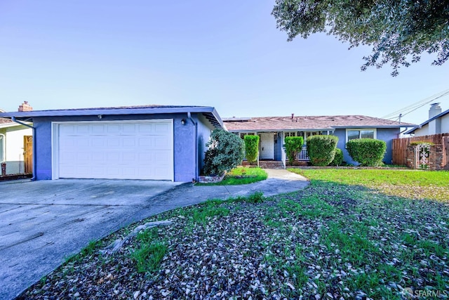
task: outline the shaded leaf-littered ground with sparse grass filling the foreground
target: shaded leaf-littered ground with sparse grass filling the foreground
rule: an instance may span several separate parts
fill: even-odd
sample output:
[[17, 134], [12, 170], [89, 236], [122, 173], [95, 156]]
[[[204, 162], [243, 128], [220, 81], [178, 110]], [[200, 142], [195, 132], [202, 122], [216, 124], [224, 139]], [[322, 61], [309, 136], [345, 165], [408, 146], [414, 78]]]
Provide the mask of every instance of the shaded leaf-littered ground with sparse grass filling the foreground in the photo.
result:
[[[443, 195], [436, 201], [415, 193], [425, 183], [394, 195], [375, 189], [393, 177], [373, 183], [358, 172], [351, 174], [360, 177], [356, 185], [308, 171], [311, 185], [298, 193], [211, 200], [123, 228], [67, 259], [20, 299], [449, 296], [447, 182], [438, 183]], [[159, 220], [172, 224], [139, 233], [116, 254], [99, 252]]]

